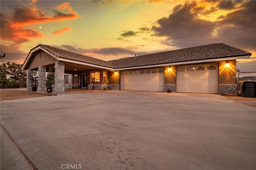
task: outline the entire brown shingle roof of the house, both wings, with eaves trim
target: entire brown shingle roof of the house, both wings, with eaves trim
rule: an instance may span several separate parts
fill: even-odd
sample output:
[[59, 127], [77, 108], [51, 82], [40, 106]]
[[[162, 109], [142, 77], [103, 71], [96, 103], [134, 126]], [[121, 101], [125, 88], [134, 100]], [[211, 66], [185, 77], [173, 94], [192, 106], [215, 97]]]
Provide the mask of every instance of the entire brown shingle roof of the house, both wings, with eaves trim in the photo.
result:
[[[50, 45], [39, 44], [38, 46], [45, 49], [46, 51], [48, 51], [49, 53], [51, 53], [56, 57], [70, 59], [74, 61], [81, 61], [84, 63], [90, 63], [94, 65], [115, 68], [115, 69], [126, 68], [126, 67], [137, 67], [137, 66], [144, 66], [144, 65], [146, 66], [146, 65], [164, 64], [164, 63], [177, 63], [177, 62], [185, 62], [185, 61], [197, 61], [197, 60], [204, 60], [204, 59], [217, 59], [217, 58], [225, 58], [225, 57], [252, 55], [252, 53], [249, 53], [248, 51], [244, 51], [242, 49], [232, 47], [225, 43], [212, 43], [208, 45], [201, 45], [201, 46], [189, 47], [184, 49], [176, 49], [172, 51], [164, 51], [160, 53], [140, 55], [136, 57], [128, 57], [123, 59], [104, 61], [101, 59], [88, 57], [86, 55], [66, 51], [64, 49], [52, 47]], [[33, 49], [35, 49], [36, 47], [34, 47]], [[28, 53], [28, 56], [26, 57], [24, 63], [28, 59], [33, 49], [31, 49], [30, 52]]]

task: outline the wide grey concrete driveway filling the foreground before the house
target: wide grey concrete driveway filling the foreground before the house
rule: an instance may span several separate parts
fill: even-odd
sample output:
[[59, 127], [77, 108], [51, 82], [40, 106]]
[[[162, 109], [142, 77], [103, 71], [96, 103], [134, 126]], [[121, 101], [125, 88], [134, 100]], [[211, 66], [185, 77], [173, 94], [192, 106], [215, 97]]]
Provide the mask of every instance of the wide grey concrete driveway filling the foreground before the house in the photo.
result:
[[[1, 125], [40, 170], [256, 169], [253, 107], [210, 94], [65, 93], [1, 101]], [[1, 128], [1, 169], [28, 167]]]

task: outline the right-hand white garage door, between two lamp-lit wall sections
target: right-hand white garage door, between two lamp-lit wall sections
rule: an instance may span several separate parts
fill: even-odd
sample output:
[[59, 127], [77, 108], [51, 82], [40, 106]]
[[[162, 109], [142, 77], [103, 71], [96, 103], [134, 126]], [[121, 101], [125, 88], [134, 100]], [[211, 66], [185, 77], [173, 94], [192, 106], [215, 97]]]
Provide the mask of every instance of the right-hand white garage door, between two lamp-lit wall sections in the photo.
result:
[[218, 64], [177, 67], [176, 91], [218, 94]]

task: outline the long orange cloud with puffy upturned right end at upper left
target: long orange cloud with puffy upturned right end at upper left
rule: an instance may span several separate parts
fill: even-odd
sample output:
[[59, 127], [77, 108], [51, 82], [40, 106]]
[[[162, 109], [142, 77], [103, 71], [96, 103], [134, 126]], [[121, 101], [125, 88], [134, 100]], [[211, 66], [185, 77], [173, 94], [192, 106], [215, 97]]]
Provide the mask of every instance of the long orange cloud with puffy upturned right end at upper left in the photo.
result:
[[53, 11], [54, 16], [46, 16], [44, 12], [35, 6], [29, 8], [22, 6], [14, 10], [13, 23], [10, 27], [22, 27], [26, 25], [42, 24], [46, 22], [59, 22], [64, 20], [73, 20], [79, 18], [77, 12], [72, 10], [72, 7], [68, 2], [56, 6], [56, 10]]

